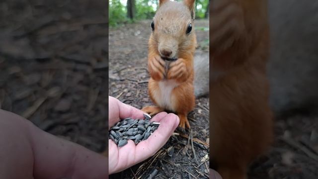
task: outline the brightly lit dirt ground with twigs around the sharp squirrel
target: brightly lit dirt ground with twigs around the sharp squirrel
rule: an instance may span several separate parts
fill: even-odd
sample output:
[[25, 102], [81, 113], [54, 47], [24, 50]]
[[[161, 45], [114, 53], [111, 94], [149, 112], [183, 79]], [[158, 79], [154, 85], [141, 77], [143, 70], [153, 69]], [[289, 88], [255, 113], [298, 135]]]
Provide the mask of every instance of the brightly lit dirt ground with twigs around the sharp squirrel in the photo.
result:
[[[137, 108], [153, 105], [148, 95], [148, 38], [151, 20], [126, 24], [109, 30], [109, 94]], [[208, 53], [208, 20], [196, 20], [199, 50]], [[209, 99], [196, 100], [188, 115], [191, 131], [175, 131], [166, 145], [149, 160], [117, 175], [113, 179], [208, 178], [209, 169]], [[191, 136], [192, 137], [188, 137]], [[189, 140], [190, 139], [190, 140]], [[168, 152], [169, 151], [169, 152]]]

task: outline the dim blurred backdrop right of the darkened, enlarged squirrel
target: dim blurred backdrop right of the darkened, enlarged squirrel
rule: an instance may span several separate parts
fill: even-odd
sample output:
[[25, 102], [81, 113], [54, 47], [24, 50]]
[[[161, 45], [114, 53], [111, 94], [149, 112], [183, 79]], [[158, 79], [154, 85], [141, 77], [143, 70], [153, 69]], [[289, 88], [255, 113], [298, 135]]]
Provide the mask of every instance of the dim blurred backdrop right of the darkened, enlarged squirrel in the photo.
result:
[[250, 179], [318, 179], [318, 1], [268, 0], [275, 142]]

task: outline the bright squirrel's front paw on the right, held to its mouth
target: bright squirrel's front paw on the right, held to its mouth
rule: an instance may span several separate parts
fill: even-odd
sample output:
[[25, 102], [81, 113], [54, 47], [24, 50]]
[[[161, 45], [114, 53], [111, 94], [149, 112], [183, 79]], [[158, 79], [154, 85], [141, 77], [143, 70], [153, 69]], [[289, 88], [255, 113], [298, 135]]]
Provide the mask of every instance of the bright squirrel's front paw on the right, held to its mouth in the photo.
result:
[[167, 79], [175, 79], [177, 82], [185, 82], [189, 77], [189, 73], [190, 72], [187, 72], [184, 59], [180, 58], [170, 64]]

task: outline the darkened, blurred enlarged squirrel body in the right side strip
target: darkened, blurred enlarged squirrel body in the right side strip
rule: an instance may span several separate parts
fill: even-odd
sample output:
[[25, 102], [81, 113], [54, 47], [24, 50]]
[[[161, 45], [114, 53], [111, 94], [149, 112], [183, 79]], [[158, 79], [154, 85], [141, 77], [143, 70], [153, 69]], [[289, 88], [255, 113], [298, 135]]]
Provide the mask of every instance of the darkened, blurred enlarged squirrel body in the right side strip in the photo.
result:
[[273, 137], [267, 0], [211, 2], [210, 166], [223, 179], [246, 179]]

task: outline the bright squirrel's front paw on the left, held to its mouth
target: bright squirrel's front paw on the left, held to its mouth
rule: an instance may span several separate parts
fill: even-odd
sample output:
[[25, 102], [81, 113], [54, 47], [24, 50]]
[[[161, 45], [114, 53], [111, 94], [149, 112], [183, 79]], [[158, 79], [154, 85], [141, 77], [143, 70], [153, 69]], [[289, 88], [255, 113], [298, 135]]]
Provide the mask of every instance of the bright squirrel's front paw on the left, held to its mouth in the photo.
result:
[[151, 57], [148, 62], [149, 74], [155, 81], [160, 81], [164, 77], [164, 61], [159, 55]]

